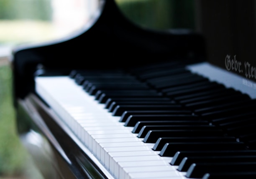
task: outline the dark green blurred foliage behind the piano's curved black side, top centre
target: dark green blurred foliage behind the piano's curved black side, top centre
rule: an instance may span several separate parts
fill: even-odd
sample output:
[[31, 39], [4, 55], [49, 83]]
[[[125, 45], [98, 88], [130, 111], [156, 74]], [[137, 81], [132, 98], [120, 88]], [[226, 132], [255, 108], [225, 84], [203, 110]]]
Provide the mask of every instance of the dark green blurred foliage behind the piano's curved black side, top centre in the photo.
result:
[[195, 28], [192, 0], [116, 0], [125, 16], [146, 28]]

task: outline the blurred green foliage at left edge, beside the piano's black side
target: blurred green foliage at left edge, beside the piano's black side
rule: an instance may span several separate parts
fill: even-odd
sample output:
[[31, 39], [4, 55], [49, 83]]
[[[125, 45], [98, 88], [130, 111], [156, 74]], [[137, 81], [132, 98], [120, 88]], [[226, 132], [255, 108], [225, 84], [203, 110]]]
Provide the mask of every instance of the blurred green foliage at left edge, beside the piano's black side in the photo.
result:
[[11, 78], [10, 67], [0, 66], [0, 176], [20, 175], [28, 156], [16, 132]]

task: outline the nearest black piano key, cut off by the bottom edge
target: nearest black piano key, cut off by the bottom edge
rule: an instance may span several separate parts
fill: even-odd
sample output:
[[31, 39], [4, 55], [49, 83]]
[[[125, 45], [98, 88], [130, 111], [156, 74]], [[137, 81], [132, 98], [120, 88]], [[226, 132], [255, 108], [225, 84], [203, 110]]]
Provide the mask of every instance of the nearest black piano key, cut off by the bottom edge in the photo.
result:
[[210, 172], [204, 174], [202, 179], [256, 179], [256, 171], [230, 171], [230, 172]]

